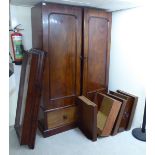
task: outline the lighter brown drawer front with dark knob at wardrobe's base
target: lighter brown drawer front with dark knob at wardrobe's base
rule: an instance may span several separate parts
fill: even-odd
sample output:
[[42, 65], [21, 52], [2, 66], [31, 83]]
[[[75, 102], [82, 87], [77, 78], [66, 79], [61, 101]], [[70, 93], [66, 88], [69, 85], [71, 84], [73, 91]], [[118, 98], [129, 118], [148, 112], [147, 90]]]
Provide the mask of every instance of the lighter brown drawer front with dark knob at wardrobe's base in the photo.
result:
[[67, 125], [77, 120], [77, 107], [58, 109], [47, 113], [48, 129]]

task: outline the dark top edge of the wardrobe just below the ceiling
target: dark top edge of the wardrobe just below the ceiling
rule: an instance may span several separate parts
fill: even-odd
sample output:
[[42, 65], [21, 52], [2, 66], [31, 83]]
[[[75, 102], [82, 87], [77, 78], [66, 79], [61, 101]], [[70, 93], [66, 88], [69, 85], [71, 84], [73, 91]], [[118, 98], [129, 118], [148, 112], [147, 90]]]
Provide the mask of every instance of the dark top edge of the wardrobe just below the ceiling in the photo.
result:
[[[45, 5], [44, 5], [45, 4]], [[56, 3], [56, 2], [40, 2], [40, 3], [37, 3], [36, 5], [34, 5], [32, 8], [35, 8], [37, 6], [41, 7], [41, 6], [46, 6], [46, 4], [48, 5], [57, 5], [57, 6], [71, 6], [71, 7], [80, 7], [82, 9], [85, 9], [85, 8], [90, 8], [90, 9], [97, 9], [97, 10], [102, 10], [102, 11], [105, 11], [107, 13], [112, 13], [112, 11], [108, 11], [106, 9], [102, 9], [102, 8], [97, 8], [97, 7], [92, 7], [92, 6], [81, 6], [81, 5], [72, 5], [72, 4], [62, 4], [62, 3]]]

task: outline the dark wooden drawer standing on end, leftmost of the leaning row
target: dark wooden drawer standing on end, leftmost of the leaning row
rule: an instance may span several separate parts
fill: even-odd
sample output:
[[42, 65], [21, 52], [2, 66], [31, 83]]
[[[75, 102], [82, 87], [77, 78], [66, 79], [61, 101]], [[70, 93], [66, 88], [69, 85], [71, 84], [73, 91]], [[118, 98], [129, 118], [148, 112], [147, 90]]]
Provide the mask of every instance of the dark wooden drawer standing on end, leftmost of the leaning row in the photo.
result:
[[79, 112], [79, 128], [89, 139], [96, 141], [97, 105], [84, 96], [79, 96], [76, 103]]

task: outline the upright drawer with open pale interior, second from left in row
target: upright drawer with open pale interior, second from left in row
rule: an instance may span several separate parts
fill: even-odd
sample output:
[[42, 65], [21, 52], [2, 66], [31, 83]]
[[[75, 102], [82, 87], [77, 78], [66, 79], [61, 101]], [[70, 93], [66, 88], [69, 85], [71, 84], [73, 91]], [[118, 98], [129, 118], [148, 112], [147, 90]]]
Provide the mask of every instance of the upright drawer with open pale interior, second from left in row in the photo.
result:
[[100, 95], [102, 95], [103, 100], [97, 113], [98, 134], [100, 136], [109, 136], [119, 114], [122, 102], [105, 94]]

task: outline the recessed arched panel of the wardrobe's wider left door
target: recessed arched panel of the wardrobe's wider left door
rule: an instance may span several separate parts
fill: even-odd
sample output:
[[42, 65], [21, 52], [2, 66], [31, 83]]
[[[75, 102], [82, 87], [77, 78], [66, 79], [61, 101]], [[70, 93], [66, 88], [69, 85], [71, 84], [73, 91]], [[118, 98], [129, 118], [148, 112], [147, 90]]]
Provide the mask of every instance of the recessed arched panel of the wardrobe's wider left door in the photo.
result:
[[50, 99], [76, 93], [76, 18], [49, 16]]

